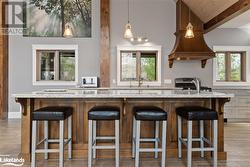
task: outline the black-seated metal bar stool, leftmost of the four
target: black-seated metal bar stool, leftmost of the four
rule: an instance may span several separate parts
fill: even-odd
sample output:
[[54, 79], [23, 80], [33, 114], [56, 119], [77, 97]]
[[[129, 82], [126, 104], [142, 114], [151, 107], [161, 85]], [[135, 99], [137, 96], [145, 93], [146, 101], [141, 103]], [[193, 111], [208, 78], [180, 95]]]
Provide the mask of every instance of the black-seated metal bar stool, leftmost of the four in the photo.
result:
[[[59, 167], [63, 167], [64, 145], [68, 144], [68, 158], [72, 158], [72, 107], [44, 107], [32, 112], [32, 150], [31, 166], [36, 166], [36, 153], [44, 153], [48, 159], [48, 153], [59, 152]], [[64, 139], [64, 120], [68, 119], [68, 139]], [[37, 121], [44, 121], [44, 139], [37, 143]], [[49, 121], [59, 121], [59, 139], [49, 139]], [[44, 149], [36, 147], [44, 143]], [[59, 143], [59, 149], [48, 149], [49, 143]]]

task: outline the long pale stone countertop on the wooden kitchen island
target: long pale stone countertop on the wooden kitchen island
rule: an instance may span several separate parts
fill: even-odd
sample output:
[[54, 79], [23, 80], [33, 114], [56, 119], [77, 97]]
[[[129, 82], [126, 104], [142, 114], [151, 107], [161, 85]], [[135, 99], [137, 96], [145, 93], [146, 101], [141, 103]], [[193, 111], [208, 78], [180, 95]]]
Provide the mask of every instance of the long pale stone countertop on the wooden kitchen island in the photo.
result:
[[233, 94], [193, 90], [50, 89], [13, 94], [16, 98], [231, 98]]

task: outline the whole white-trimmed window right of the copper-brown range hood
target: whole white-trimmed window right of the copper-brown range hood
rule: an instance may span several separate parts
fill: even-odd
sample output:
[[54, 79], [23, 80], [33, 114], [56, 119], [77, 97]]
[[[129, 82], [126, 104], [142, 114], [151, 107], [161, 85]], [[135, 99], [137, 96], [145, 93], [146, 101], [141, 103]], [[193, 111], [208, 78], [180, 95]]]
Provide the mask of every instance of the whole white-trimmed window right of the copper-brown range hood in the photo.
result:
[[249, 46], [214, 46], [214, 86], [249, 86]]

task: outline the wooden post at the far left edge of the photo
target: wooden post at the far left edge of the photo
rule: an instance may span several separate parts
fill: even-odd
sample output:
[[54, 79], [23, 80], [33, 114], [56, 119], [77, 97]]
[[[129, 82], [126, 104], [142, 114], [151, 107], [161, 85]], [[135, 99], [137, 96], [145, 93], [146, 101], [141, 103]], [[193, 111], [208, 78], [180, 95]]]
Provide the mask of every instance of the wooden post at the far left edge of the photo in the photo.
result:
[[0, 2], [0, 119], [8, 117], [8, 35], [3, 34], [2, 29], [6, 28], [5, 8]]

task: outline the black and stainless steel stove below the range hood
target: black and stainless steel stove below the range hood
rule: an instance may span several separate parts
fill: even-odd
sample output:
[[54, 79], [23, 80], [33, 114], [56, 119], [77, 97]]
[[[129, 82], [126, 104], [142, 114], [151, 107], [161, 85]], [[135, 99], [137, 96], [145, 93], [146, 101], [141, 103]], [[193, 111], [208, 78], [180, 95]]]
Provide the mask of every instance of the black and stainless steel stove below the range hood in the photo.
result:
[[211, 92], [212, 88], [209, 87], [205, 87], [205, 86], [200, 86], [201, 85], [201, 81], [199, 78], [176, 78], [175, 79], [175, 87], [177, 88], [182, 88], [183, 90], [196, 90], [197, 88], [197, 82], [200, 90], [201, 91], [208, 91]]

